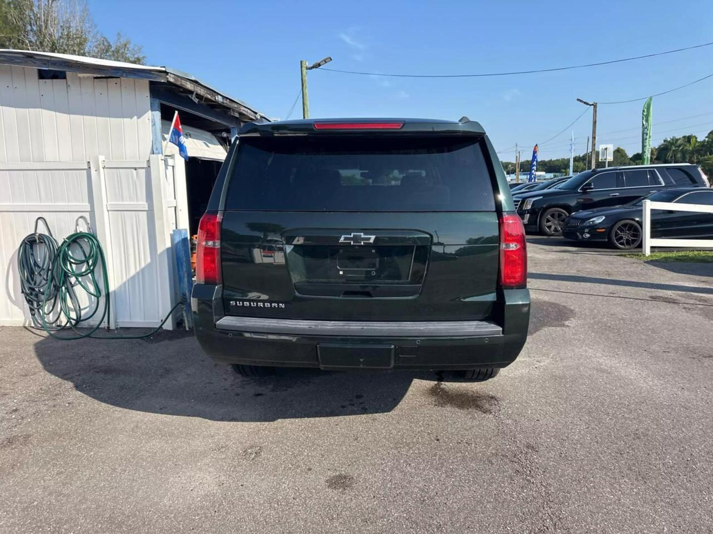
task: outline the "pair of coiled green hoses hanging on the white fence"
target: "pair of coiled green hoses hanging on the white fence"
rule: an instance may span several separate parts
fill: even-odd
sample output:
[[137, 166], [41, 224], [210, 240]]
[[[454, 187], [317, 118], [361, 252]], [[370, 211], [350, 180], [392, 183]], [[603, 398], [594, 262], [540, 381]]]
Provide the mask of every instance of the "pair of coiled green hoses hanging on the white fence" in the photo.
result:
[[[41, 218], [40, 218], [41, 219]], [[42, 219], [44, 220], [44, 219]], [[45, 221], [46, 226], [46, 221]], [[97, 269], [101, 275], [97, 276]], [[22, 240], [18, 251], [18, 269], [22, 293], [29, 306], [32, 323], [58, 340], [141, 339], [160, 330], [181, 301], [171, 308], [161, 323], [149, 333], [140, 335], [94, 335], [111, 310], [106, 258], [99, 240], [90, 232], [79, 231], [66, 237], [62, 244], [51, 234], [35, 234]], [[80, 298], [78, 291], [86, 294]], [[84, 309], [82, 300], [89, 304]], [[98, 315], [101, 309], [101, 314]], [[80, 331], [82, 323], [96, 318], [96, 325]], [[58, 335], [58, 330], [71, 329], [74, 335]]]

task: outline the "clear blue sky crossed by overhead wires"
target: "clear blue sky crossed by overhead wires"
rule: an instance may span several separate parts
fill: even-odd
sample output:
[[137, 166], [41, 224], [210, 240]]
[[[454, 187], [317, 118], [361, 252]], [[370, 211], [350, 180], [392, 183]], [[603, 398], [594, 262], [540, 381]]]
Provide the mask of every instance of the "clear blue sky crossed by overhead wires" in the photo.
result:
[[[378, 73], [453, 74], [607, 61], [713, 41], [713, 1], [89, 0], [100, 31], [143, 45], [147, 62], [193, 73], [270, 117], [287, 117], [299, 60]], [[575, 98], [626, 100], [713, 73], [713, 46], [557, 73], [386, 78], [309, 72], [312, 117], [468, 115], [497, 150], [523, 159], [584, 110]], [[654, 99], [653, 140], [713, 130], [713, 78]], [[640, 150], [642, 103], [600, 105], [597, 144]], [[703, 115], [707, 114], [707, 115]], [[701, 115], [692, 117], [693, 115]], [[301, 116], [300, 104], [292, 118]], [[690, 117], [690, 118], [684, 118]], [[679, 120], [681, 119], [681, 120]], [[674, 121], [674, 122], [670, 122]], [[658, 124], [664, 122], [664, 124]], [[573, 127], [584, 152], [591, 116]], [[620, 131], [625, 130], [625, 131]], [[569, 130], [540, 159], [569, 154]], [[501, 154], [513, 160], [514, 150]]]

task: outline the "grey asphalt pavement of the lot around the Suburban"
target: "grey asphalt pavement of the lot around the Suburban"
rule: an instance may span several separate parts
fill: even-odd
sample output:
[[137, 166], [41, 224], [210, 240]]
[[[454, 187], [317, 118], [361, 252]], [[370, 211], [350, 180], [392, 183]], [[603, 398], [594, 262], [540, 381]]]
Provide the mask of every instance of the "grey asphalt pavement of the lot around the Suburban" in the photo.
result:
[[0, 532], [713, 532], [713, 266], [530, 241], [482, 384], [0, 328]]

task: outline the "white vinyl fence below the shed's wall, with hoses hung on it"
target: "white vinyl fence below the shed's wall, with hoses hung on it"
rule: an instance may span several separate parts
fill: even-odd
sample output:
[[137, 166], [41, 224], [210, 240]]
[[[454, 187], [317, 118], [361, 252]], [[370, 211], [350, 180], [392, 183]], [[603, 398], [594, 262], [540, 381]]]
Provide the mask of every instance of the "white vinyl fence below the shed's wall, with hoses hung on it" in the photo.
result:
[[[7, 192], [0, 197], [0, 272], [5, 273], [0, 325], [29, 324], [17, 248], [34, 231], [38, 216], [58, 242], [76, 231], [80, 216], [90, 221], [106, 254], [113, 327], [158, 325], [176, 302], [170, 232], [178, 216], [171, 158], [3, 162], [0, 191]], [[166, 328], [174, 324], [170, 320]]]

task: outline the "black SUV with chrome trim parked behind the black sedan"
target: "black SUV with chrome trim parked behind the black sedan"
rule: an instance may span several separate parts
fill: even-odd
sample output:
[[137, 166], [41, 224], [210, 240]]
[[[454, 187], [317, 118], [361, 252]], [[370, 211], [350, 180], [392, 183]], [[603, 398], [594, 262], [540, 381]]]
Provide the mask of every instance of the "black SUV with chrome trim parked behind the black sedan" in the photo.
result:
[[620, 206], [667, 187], [709, 187], [700, 167], [687, 163], [609, 167], [580, 172], [557, 189], [518, 194], [515, 207], [525, 229], [561, 236], [568, 215]]

